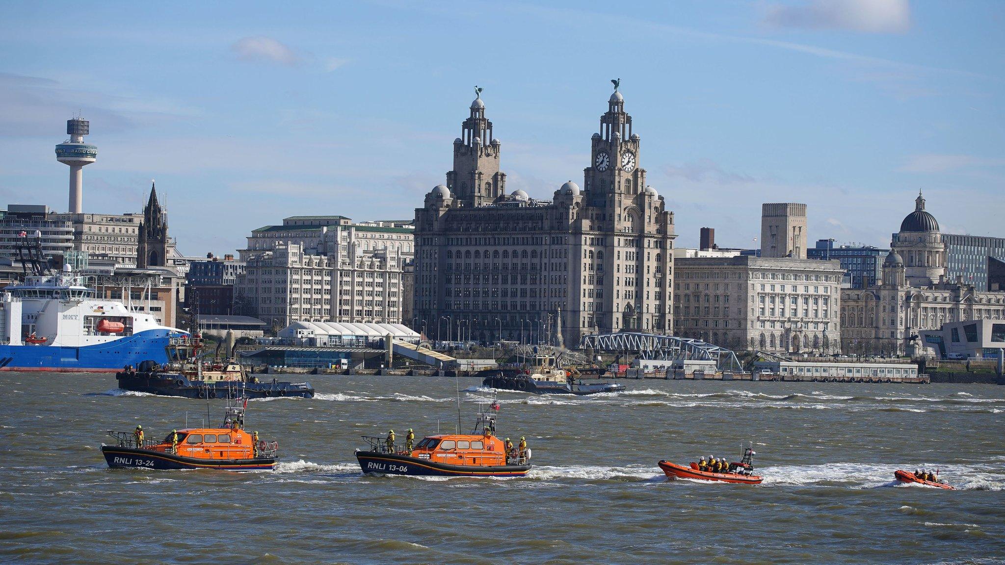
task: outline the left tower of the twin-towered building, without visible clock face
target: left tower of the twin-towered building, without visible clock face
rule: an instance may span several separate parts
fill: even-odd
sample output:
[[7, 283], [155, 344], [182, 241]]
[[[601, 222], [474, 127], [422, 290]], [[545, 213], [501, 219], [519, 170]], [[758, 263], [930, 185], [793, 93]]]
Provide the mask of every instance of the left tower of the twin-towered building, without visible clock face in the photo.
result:
[[506, 194], [506, 173], [499, 171], [499, 140], [492, 136], [492, 123], [485, 120], [481, 88], [474, 87], [471, 114], [460, 125], [453, 140], [453, 170], [446, 186], [461, 206], [485, 206]]

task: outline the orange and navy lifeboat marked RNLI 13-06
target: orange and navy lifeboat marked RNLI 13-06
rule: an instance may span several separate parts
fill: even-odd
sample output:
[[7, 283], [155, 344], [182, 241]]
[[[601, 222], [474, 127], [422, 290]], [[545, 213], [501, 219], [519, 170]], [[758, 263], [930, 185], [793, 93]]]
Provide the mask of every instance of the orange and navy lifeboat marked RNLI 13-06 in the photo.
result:
[[[411, 475], [419, 477], [524, 477], [531, 470], [531, 449], [512, 447], [495, 435], [494, 398], [479, 400], [474, 429], [470, 433], [427, 435], [414, 446], [396, 444], [387, 438], [364, 435], [369, 443], [356, 449], [364, 475]], [[459, 428], [458, 418], [458, 428]], [[480, 430], [479, 430], [480, 427]], [[521, 438], [523, 439], [523, 438]], [[526, 445], [522, 442], [522, 445]], [[409, 448], [411, 447], [411, 448]]]

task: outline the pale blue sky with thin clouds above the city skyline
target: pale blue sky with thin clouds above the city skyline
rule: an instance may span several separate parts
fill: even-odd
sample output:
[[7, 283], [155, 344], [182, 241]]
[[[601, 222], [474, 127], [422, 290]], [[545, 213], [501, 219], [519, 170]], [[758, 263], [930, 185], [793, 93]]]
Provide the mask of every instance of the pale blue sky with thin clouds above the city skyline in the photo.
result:
[[0, 205], [67, 206], [53, 148], [90, 121], [83, 211], [152, 180], [186, 255], [290, 215], [412, 218], [481, 86], [509, 190], [582, 183], [612, 78], [677, 246], [886, 246], [923, 190], [944, 232], [1005, 237], [1005, 2], [10, 2]]

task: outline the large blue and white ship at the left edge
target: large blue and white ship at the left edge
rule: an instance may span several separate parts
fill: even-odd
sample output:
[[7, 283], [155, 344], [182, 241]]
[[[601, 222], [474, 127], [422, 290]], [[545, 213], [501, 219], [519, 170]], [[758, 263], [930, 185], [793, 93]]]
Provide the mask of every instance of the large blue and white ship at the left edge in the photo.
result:
[[0, 290], [0, 371], [116, 372], [148, 359], [164, 363], [168, 341], [183, 335], [96, 298], [69, 265]]

